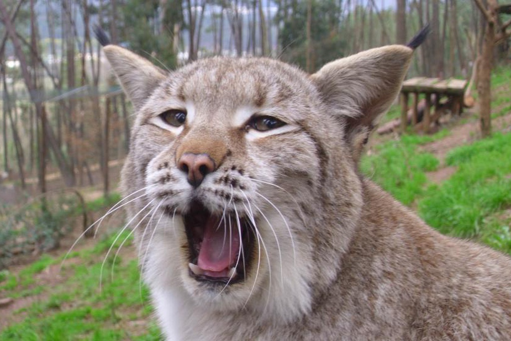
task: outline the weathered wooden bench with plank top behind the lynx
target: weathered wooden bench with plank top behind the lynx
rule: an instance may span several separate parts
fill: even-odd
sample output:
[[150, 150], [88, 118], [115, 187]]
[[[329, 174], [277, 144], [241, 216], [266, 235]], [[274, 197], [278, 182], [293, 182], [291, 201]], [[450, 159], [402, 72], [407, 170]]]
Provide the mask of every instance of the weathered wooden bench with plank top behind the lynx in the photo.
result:
[[406, 130], [408, 123], [408, 98], [412, 94], [412, 115], [411, 125], [417, 124], [417, 103], [419, 102], [419, 95], [424, 94], [426, 97], [426, 105], [424, 107], [424, 114], [422, 119], [422, 130], [424, 132], [429, 131], [431, 125], [431, 102], [432, 96], [434, 96], [434, 107], [435, 114], [433, 118], [435, 121], [439, 116], [440, 98], [447, 97], [448, 101], [452, 103], [451, 109], [453, 113], [460, 114], [463, 110], [463, 94], [467, 87], [467, 81], [461, 79], [445, 79], [440, 80], [439, 78], [426, 78], [426, 77], [415, 77], [410, 78], [403, 82], [401, 87], [401, 132]]

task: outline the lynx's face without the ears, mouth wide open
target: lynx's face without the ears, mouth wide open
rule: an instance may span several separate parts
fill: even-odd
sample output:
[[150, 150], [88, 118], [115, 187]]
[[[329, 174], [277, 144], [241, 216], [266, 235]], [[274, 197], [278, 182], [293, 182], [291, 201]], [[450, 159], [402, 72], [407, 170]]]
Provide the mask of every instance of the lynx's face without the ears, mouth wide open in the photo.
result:
[[135, 128], [141, 183], [124, 181], [128, 192], [148, 186], [144, 202], [161, 217], [136, 231], [148, 276], [161, 263], [155, 277], [168, 271], [221, 309], [306, 295], [306, 215], [326, 166], [316, 129], [338, 126], [317, 98], [304, 75], [271, 60], [203, 60], [161, 83]]

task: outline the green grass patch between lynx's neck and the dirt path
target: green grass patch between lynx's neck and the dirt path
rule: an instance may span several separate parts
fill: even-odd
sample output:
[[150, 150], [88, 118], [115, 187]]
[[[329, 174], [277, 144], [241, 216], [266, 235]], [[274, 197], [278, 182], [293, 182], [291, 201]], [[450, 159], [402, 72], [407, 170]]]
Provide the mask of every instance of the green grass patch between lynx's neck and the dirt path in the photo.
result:
[[380, 184], [387, 192], [410, 205], [424, 191], [426, 172], [438, 167], [438, 160], [419, 146], [445, 137], [448, 130], [434, 135], [403, 135], [376, 147], [376, 153], [364, 156], [360, 162], [363, 174]]

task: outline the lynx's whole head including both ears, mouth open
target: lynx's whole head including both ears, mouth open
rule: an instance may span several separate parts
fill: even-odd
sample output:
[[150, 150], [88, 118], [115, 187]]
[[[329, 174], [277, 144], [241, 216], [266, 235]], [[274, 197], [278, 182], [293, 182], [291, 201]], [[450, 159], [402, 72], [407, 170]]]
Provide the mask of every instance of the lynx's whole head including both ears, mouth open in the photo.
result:
[[313, 75], [266, 58], [163, 71], [104, 51], [136, 110], [122, 187], [136, 197], [128, 214], [151, 290], [218, 314], [310, 310], [350, 243], [356, 162], [413, 50], [368, 50]]

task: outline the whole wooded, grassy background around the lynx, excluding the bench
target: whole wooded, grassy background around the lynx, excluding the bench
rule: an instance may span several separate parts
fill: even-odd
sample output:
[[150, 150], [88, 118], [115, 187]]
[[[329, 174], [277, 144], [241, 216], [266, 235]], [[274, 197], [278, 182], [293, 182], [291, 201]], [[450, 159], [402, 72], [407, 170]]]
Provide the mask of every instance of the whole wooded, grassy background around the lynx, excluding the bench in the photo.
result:
[[[405, 44], [426, 24], [431, 34], [407, 77], [466, 79], [475, 106], [435, 134], [374, 137], [361, 170], [440, 231], [509, 253], [505, 0], [0, 0], [0, 339], [159, 335], [147, 322], [145, 288], [142, 304], [125, 297], [138, 286], [134, 252], [97, 292], [103, 259], [121, 262], [106, 249], [124, 240], [132, 250], [129, 235], [114, 234], [123, 226], [120, 211], [102, 237], [81, 241], [71, 267], [56, 270], [84, 229], [120, 199], [134, 119], [94, 25], [162, 69], [216, 55], [267, 56], [312, 73], [362, 50]], [[398, 116], [394, 106], [383, 121]], [[83, 321], [70, 325], [67, 317]]]

